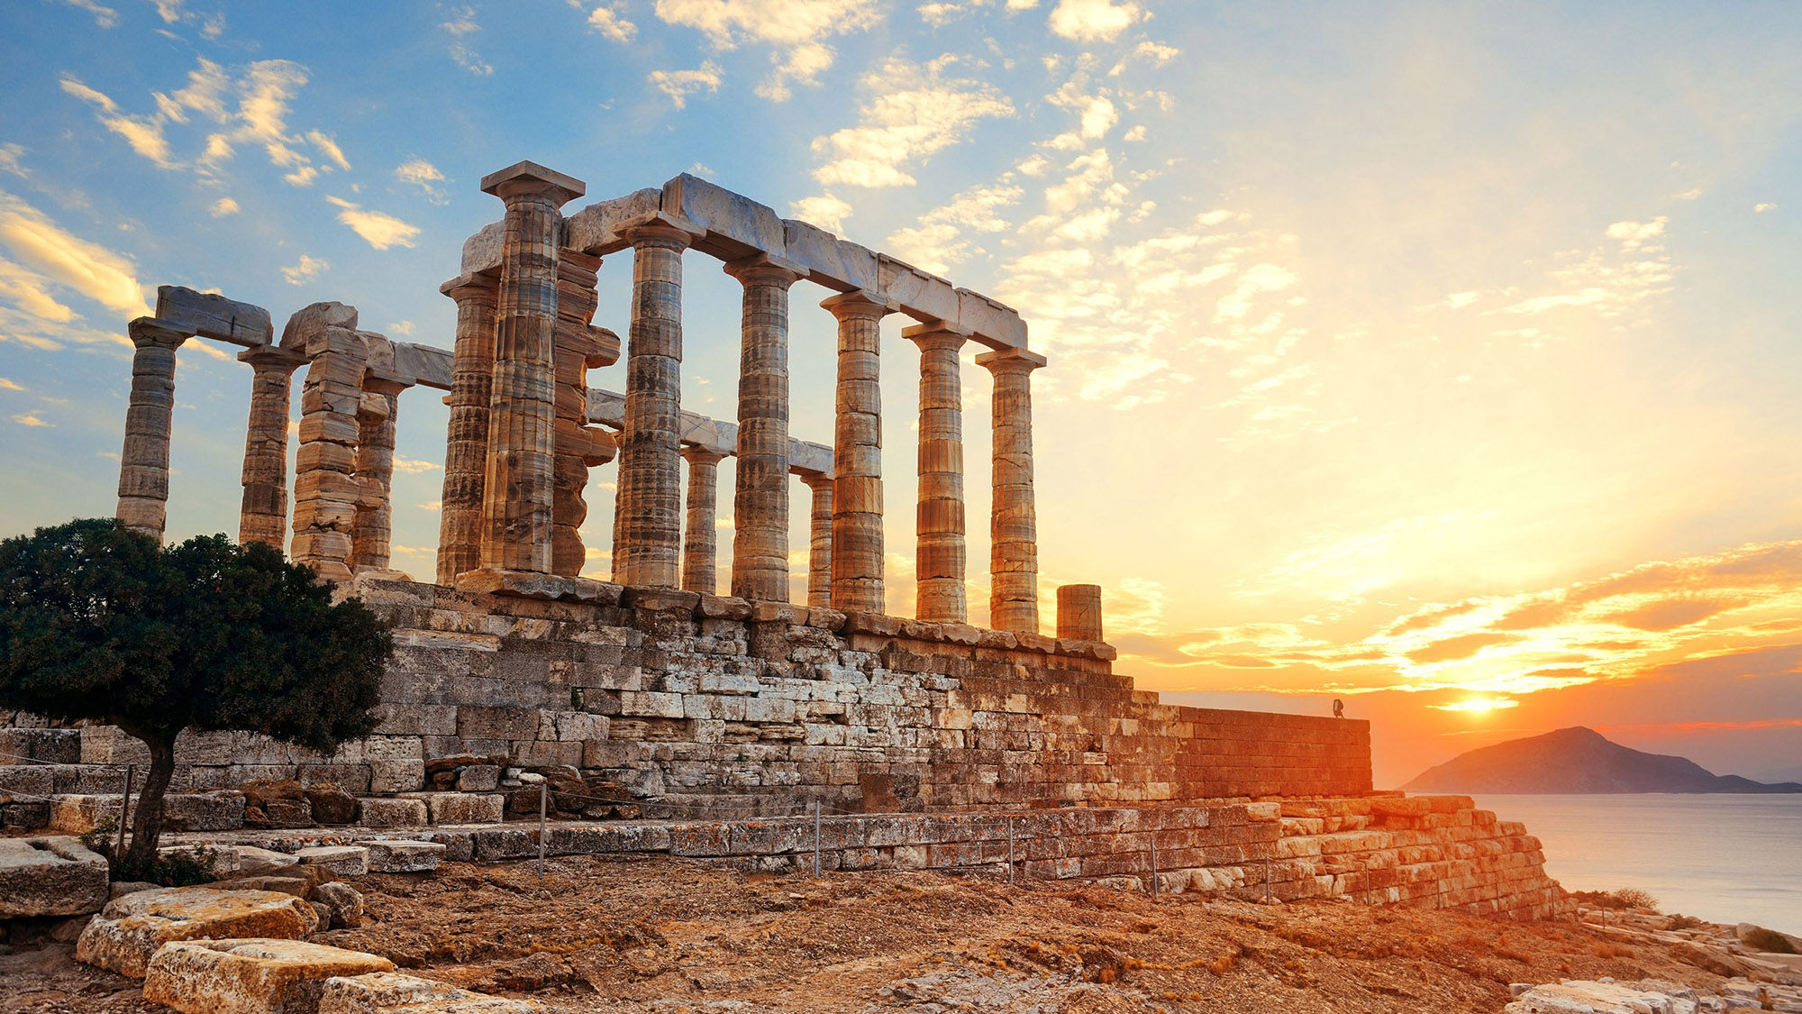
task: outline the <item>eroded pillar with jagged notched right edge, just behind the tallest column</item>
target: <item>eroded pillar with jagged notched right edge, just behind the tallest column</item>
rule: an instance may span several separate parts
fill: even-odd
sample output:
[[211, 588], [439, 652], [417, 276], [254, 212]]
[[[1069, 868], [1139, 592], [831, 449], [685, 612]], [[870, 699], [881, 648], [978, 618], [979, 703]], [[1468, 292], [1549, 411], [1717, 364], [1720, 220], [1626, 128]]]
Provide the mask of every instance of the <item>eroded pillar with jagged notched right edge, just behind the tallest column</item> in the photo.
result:
[[[557, 260], [557, 422], [551, 493], [551, 574], [575, 577], [582, 572], [582, 521], [587, 520], [587, 469], [613, 460], [613, 437], [587, 426], [587, 372], [618, 359], [613, 334], [591, 327], [600, 298], [595, 278], [600, 258], [560, 251]], [[607, 339], [607, 341], [602, 341]]]

